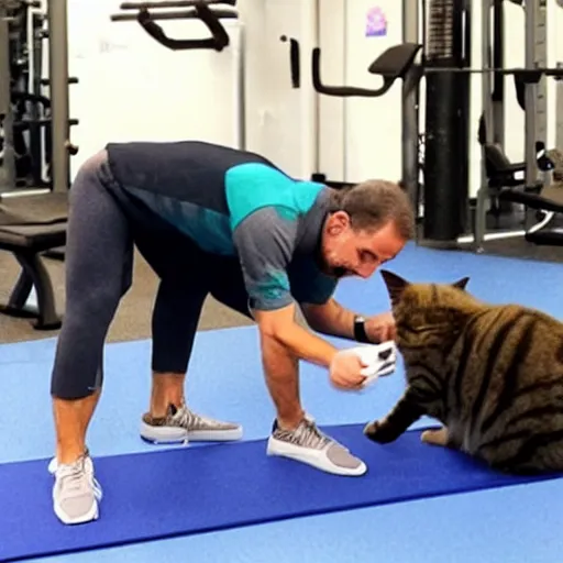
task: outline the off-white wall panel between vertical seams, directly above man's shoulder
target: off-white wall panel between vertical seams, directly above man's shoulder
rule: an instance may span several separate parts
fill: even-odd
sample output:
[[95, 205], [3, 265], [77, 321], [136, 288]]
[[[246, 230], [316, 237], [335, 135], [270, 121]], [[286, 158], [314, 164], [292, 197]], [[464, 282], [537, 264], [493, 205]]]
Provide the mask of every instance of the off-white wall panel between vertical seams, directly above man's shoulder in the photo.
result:
[[[314, 158], [314, 92], [310, 51], [314, 4], [302, 0], [239, 0], [245, 22], [246, 147], [288, 174], [309, 176]], [[291, 87], [289, 41], [300, 45], [302, 86]]]

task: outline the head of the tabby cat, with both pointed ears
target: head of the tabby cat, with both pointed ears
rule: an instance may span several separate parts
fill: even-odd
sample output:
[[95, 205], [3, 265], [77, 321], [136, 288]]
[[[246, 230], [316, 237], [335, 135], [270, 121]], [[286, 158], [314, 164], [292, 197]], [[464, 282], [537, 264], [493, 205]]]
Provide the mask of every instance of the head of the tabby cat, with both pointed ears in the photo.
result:
[[389, 291], [397, 323], [397, 346], [402, 352], [439, 350], [454, 335], [462, 320], [468, 278], [454, 284], [411, 284], [388, 271], [382, 276]]

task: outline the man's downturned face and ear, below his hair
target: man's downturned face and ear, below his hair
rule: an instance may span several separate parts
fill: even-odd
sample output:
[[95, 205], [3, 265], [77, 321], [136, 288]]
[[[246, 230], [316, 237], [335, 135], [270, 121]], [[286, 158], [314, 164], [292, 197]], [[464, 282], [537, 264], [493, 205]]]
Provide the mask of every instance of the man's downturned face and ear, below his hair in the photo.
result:
[[347, 213], [338, 211], [324, 224], [321, 267], [324, 273], [339, 278], [367, 278], [383, 263], [394, 258], [405, 244], [393, 223], [376, 231], [354, 231]]

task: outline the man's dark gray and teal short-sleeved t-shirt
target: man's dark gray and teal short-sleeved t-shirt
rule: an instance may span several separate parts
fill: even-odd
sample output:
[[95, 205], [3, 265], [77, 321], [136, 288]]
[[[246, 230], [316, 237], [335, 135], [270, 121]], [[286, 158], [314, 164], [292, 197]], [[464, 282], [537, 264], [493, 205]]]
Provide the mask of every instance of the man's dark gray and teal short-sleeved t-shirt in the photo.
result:
[[107, 150], [122, 203], [148, 208], [206, 253], [236, 257], [253, 308], [323, 303], [334, 291], [336, 279], [318, 266], [325, 186], [210, 143], [110, 143]]

